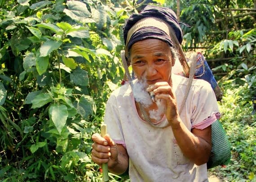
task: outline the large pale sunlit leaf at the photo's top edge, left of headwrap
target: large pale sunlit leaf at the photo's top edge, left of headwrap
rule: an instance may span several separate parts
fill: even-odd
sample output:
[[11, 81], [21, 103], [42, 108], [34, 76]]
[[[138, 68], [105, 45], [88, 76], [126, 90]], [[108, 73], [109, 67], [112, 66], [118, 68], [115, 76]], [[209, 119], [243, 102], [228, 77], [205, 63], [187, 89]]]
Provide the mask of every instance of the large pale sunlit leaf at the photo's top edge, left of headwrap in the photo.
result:
[[65, 8], [63, 12], [66, 13], [67, 16], [71, 17], [71, 19], [84, 21], [84, 19], [90, 16], [87, 6], [80, 1], [69, 0], [66, 2], [66, 5], [68, 9]]

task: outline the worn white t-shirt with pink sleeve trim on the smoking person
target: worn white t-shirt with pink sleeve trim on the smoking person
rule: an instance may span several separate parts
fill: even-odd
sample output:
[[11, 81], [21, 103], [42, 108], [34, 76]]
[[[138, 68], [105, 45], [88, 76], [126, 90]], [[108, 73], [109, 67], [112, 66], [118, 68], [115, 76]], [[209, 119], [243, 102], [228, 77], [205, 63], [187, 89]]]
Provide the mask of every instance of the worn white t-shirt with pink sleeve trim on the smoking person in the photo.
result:
[[[172, 75], [172, 90], [176, 94], [178, 109], [187, 83], [187, 78]], [[216, 121], [217, 113], [211, 86], [204, 80], [194, 79], [180, 114], [182, 122], [189, 130], [192, 127], [203, 129]], [[123, 144], [127, 149], [131, 182], [208, 181], [206, 164], [197, 166], [183, 155], [170, 126], [152, 127], [140, 118], [128, 83], [111, 93], [104, 122], [115, 143]], [[164, 116], [157, 125], [166, 123]]]

